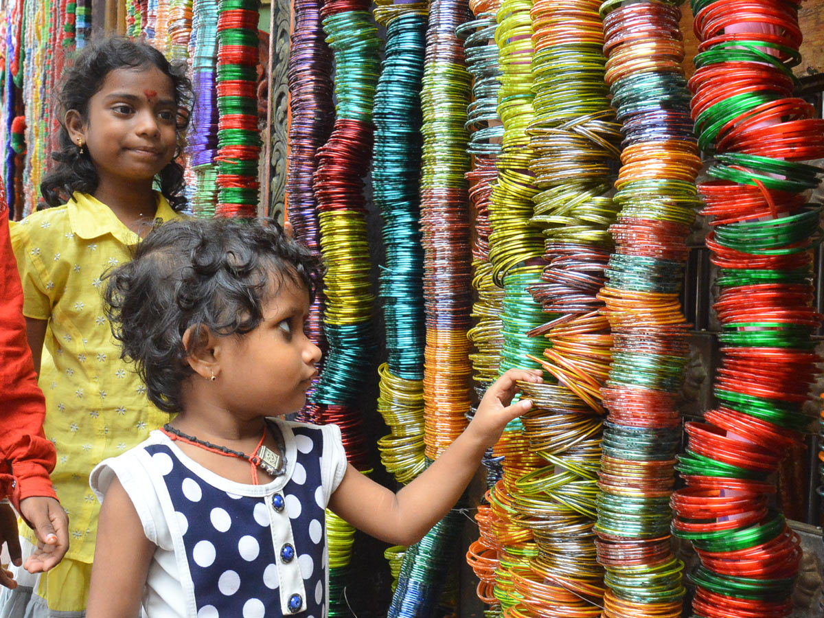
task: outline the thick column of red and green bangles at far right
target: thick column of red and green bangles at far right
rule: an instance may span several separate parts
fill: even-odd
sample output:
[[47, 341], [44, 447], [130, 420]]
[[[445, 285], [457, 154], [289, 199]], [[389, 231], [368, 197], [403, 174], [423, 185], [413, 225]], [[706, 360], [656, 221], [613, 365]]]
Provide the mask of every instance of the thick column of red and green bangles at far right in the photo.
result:
[[812, 333], [812, 248], [820, 208], [807, 203], [822, 170], [824, 122], [794, 98], [800, 61], [791, 2], [692, 2], [692, 114], [701, 150], [714, 155], [699, 186], [713, 218], [707, 246], [719, 267], [714, 303], [721, 366], [719, 408], [687, 423], [672, 496], [672, 530], [692, 541], [700, 566], [696, 618], [789, 616], [801, 559], [798, 536], [768, 508], [766, 482], [796, 452], [809, 419], [802, 405], [817, 377]]

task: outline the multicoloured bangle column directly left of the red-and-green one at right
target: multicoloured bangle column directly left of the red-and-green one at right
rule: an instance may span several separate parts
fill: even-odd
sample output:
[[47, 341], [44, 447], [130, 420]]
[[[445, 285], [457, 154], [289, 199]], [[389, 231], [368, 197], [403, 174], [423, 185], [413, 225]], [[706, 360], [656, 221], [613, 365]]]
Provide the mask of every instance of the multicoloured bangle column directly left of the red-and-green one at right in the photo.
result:
[[597, 498], [605, 618], [681, 616], [669, 497], [688, 346], [678, 292], [699, 204], [700, 159], [682, 68], [677, 0], [602, 3], [606, 83], [623, 124], [616, 243], [599, 294], [614, 344]]

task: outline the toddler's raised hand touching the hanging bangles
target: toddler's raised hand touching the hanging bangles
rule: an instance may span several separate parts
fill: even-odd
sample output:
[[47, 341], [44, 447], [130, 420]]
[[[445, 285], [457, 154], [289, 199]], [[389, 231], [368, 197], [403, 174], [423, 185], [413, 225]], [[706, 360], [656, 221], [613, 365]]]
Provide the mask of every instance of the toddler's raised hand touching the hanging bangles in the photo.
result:
[[544, 382], [541, 373], [540, 369], [510, 369], [504, 373], [486, 390], [467, 431], [475, 432], [487, 447], [498, 442], [506, 424], [532, 407], [527, 399], [512, 403], [518, 391], [517, 381], [541, 384]]

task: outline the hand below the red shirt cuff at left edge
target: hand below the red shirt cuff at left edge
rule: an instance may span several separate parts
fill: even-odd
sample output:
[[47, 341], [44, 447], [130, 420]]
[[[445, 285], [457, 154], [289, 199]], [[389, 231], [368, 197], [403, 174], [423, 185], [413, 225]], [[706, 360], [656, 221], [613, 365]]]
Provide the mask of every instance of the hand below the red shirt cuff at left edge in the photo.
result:
[[53, 569], [68, 550], [68, 515], [57, 500], [44, 497], [21, 500], [20, 511], [37, 536], [37, 549], [23, 568], [29, 573]]

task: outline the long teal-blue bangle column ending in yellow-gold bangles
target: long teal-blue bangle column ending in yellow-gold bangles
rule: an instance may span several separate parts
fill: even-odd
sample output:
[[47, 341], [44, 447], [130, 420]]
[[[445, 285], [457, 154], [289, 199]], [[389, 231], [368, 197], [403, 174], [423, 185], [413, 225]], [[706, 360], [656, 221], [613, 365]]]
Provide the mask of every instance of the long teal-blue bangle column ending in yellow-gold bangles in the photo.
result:
[[377, 410], [391, 434], [378, 441], [386, 471], [406, 484], [424, 470], [424, 250], [420, 244], [420, 90], [425, 4], [378, 2], [386, 48], [375, 95], [372, 196], [383, 218], [381, 296], [388, 362]]

